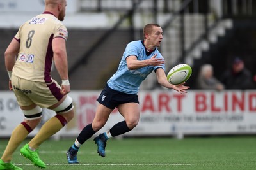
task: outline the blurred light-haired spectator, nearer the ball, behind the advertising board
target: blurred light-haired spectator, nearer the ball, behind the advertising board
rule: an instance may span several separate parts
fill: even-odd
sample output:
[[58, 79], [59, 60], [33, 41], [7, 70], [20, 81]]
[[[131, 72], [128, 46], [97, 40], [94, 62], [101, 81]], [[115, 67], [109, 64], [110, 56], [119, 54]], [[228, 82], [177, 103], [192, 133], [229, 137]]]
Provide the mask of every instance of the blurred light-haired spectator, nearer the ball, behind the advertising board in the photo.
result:
[[196, 80], [198, 89], [223, 90], [224, 85], [214, 77], [214, 71], [211, 64], [204, 64], [200, 68], [198, 78]]

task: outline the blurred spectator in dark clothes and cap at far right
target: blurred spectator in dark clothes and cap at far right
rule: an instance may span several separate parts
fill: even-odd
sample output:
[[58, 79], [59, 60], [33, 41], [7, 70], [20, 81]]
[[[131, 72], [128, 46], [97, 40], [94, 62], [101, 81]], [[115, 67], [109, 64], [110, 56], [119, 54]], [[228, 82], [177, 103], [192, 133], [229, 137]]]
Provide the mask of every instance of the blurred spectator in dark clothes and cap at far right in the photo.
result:
[[244, 61], [240, 57], [235, 57], [232, 68], [225, 71], [221, 76], [221, 82], [226, 89], [252, 89], [252, 73], [244, 66]]

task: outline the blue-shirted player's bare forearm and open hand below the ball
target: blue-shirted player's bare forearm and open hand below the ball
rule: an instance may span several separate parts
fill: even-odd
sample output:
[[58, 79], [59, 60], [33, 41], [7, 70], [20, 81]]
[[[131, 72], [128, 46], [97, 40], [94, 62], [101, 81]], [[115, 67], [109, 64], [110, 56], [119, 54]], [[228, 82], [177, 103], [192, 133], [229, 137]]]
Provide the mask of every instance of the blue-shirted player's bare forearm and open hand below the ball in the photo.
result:
[[190, 88], [189, 86], [184, 86], [184, 83], [180, 85], [172, 85], [171, 83], [169, 83], [166, 74], [164, 73], [164, 70], [162, 68], [156, 70], [156, 76], [157, 81], [160, 85], [163, 85], [163, 87], [166, 87], [168, 89], [176, 90], [177, 92], [180, 92], [180, 94], [187, 93], [186, 90]]

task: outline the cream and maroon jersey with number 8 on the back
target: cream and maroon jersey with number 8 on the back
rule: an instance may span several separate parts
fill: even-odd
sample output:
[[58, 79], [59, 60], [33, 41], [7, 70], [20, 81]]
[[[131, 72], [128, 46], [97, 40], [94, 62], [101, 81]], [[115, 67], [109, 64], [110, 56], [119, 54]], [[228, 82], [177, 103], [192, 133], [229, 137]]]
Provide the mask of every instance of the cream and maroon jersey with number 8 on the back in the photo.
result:
[[20, 42], [20, 50], [13, 74], [51, 83], [52, 39], [67, 37], [67, 28], [52, 13], [44, 12], [25, 22], [14, 37]]

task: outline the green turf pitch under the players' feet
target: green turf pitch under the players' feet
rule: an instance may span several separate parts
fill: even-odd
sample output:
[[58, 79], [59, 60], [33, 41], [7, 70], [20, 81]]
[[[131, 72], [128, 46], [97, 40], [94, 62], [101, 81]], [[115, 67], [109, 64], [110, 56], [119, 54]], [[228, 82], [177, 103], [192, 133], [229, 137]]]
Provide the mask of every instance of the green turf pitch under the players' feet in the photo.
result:
[[[65, 152], [73, 142], [48, 140], [40, 146], [40, 158], [47, 169], [256, 169], [255, 136], [109, 139], [105, 158], [89, 140], [78, 153], [81, 164], [70, 165]], [[6, 143], [1, 139], [1, 155]], [[13, 162], [26, 170], [38, 169], [19, 155], [19, 149]]]

